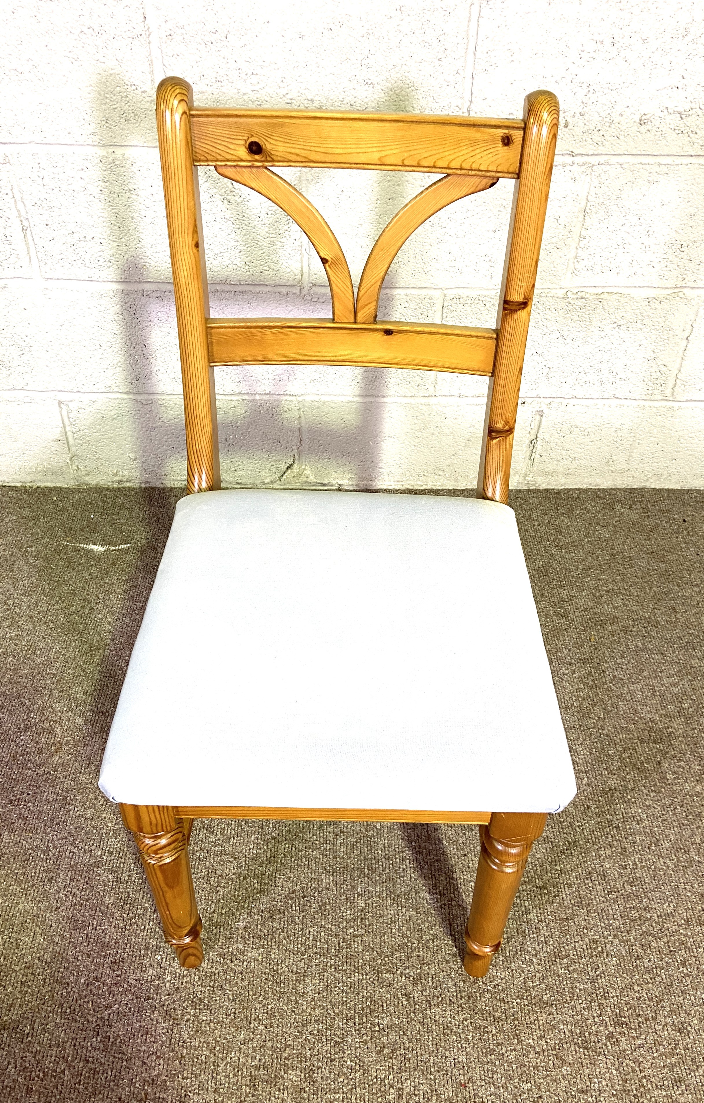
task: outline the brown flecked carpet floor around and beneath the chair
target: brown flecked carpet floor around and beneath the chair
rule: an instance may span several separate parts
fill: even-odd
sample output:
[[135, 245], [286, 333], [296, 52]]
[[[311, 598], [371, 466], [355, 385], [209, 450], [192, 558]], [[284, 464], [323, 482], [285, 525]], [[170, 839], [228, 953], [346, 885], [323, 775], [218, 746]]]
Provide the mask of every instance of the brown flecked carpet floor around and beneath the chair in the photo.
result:
[[704, 1099], [704, 493], [513, 499], [579, 793], [484, 981], [457, 825], [196, 823], [179, 968], [96, 788], [177, 496], [0, 492], [0, 1097]]

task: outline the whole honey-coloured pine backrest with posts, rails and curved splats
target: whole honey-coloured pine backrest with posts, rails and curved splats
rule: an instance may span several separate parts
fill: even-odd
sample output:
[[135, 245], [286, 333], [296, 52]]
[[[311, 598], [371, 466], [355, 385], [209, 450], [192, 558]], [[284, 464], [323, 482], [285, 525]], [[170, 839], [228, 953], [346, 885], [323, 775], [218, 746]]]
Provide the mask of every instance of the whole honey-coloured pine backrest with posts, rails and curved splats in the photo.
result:
[[[195, 108], [191, 86], [167, 77], [157, 126], [173, 270], [189, 492], [220, 486], [213, 367], [345, 364], [489, 377], [478, 493], [506, 502], [533, 290], [559, 108], [550, 92], [525, 99], [523, 120]], [[266, 195], [309, 237], [332, 296], [332, 320], [211, 319], [198, 165]], [[446, 173], [392, 218], [374, 245], [356, 302], [350, 270], [324, 218], [269, 165]], [[463, 195], [515, 180], [497, 329], [377, 322], [378, 293], [406, 238]]]

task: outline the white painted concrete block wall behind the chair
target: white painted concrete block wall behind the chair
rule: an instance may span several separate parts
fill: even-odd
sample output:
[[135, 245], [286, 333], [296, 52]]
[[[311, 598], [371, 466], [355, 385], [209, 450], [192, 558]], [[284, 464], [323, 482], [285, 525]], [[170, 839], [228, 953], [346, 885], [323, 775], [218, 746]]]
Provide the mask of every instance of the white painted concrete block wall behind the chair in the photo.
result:
[[[184, 481], [153, 99], [562, 124], [525, 362], [515, 486], [704, 485], [704, 9], [698, 0], [19, 0], [0, 97], [0, 481]], [[282, 170], [353, 278], [430, 179]], [[329, 314], [278, 208], [201, 171], [213, 314]], [[380, 317], [494, 323], [512, 185], [404, 246]], [[217, 371], [230, 485], [476, 481], [486, 383]]]

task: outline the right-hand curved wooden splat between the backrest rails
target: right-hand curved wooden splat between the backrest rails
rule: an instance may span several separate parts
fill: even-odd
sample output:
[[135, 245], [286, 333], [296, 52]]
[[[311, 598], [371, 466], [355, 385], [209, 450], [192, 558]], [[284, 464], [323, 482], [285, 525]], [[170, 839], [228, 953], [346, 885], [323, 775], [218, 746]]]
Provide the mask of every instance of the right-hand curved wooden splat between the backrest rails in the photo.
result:
[[375, 322], [378, 310], [378, 295], [386, 272], [394, 257], [410, 235], [431, 215], [466, 195], [493, 188], [498, 176], [448, 175], [436, 180], [394, 215], [376, 238], [374, 248], [366, 258], [364, 271], [356, 292], [356, 321]]

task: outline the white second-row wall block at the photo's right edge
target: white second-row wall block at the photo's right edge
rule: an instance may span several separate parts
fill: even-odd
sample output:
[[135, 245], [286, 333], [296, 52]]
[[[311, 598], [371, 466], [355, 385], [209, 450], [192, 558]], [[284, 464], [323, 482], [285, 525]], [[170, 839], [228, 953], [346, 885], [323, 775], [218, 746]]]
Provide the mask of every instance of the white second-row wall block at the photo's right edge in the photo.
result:
[[595, 164], [574, 283], [704, 283], [704, 164]]

